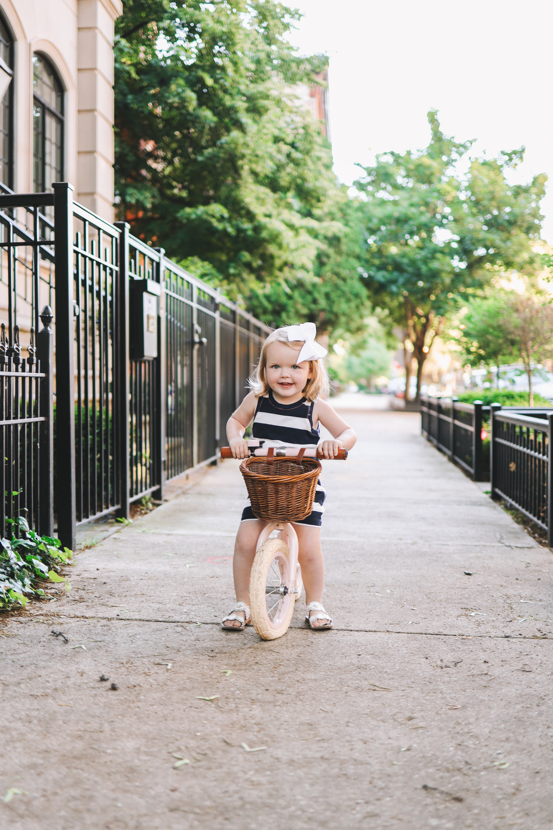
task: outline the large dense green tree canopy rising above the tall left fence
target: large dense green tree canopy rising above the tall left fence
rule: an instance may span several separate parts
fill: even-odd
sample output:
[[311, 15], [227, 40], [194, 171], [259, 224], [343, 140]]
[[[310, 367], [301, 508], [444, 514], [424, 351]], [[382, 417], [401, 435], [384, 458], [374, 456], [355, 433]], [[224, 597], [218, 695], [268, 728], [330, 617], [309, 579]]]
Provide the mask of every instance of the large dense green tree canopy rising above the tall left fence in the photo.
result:
[[327, 63], [294, 55], [298, 18], [275, 0], [124, 0], [116, 189], [133, 233], [264, 320], [327, 329], [366, 295], [347, 193], [293, 90]]

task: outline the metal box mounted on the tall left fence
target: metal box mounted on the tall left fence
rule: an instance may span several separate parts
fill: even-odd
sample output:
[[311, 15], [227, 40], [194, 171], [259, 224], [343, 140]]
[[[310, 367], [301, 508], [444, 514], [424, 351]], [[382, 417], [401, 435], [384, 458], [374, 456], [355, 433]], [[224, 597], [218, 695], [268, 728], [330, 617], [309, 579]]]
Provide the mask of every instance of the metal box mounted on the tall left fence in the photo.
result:
[[158, 298], [161, 286], [153, 280], [129, 282], [130, 359], [158, 357]]

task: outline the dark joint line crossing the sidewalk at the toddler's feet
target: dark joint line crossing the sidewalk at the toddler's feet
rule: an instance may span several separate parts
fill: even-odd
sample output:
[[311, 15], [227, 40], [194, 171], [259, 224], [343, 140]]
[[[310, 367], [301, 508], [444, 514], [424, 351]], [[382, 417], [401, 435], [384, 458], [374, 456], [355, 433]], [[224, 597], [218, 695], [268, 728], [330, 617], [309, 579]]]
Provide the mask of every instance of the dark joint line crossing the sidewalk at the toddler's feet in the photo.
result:
[[[45, 618], [45, 619], [42, 619]], [[165, 623], [167, 625], [194, 625], [200, 626], [216, 626], [221, 627], [221, 623], [212, 622], [211, 620], [178, 620], [178, 619], [161, 619], [155, 617], [99, 617], [87, 616], [85, 614], [36, 614], [34, 617], [18, 617], [10, 620], [12, 623], [27, 623], [27, 622], [46, 622], [47, 619], [64, 619], [70, 620], [90, 620], [90, 622], [114, 622], [114, 623]], [[249, 628], [250, 626], [248, 626]], [[253, 626], [251, 627], [254, 630]], [[221, 629], [222, 630], [222, 629]], [[229, 629], [224, 629], [228, 632]], [[312, 629], [307, 625], [291, 625], [289, 630], [311, 632]], [[329, 629], [326, 629], [329, 630]], [[536, 637], [536, 635], [526, 636], [522, 634], [463, 634], [444, 631], [397, 631], [392, 628], [339, 628], [334, 626], [332, 631], [351, 634], [405, 634], [407, 636], [419, 637], [457, 637], [459, 640], [553, 640], [553, 637]]]

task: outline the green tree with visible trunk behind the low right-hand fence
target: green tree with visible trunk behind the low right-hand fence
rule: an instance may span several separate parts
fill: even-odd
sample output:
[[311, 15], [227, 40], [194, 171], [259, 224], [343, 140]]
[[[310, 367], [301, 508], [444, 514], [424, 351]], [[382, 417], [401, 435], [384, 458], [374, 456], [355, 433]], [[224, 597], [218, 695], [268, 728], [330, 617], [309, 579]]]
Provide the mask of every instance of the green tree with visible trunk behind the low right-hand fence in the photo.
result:
[[429, 146], [386, 153], [356, 183], [366, 230], [366, 271], [371, 295], [404, 330], [409, 388], [416, 361], [417, 398], [434, 339], [459, 299], [482, 291], [497, 273], [531, 271], [532, 240], [539, 237], [545, 175], [511, 185], [508, 174], [524, 149], [497, 159], [472, 159], [457, 172], [472, 143], [444, 135], [428, 114]]

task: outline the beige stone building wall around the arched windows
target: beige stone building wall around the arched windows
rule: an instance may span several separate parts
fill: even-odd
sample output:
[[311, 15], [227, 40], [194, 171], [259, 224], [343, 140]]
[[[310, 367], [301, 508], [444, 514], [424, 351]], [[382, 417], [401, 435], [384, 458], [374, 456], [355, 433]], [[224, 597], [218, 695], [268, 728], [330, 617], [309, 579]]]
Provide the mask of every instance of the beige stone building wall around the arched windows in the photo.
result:
[[121, 0], [0, 0], [15, 41], [14, 190], [32, 192], [32, 56], [65, 87], [64, 178], [108, 220], [114, 200], [114, 20]]

